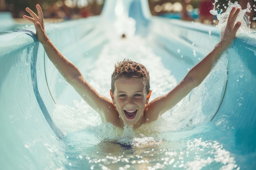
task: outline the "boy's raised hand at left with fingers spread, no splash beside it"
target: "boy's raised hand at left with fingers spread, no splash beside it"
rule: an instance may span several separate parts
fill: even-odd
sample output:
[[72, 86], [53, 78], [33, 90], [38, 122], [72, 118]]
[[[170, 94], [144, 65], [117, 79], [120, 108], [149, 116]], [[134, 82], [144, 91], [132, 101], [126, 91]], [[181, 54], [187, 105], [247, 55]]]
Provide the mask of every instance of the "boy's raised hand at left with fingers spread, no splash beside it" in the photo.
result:
[[43, 43], [47, 40], [47, 35], [45, 32], [45, 25], [43, 20], [43, 11], [39, 4], [36, 5], [36, 9], [38, 12], [38, 16], [28, 7], [26, 8], [26, 11], [31, 15], [31, 17], [27, 15], [23, 15], [23, 18], [25, 20], [28, 20], [30, 22], [34, 23], [34, 26], [36, 28], [36, 38], [39, 42]]

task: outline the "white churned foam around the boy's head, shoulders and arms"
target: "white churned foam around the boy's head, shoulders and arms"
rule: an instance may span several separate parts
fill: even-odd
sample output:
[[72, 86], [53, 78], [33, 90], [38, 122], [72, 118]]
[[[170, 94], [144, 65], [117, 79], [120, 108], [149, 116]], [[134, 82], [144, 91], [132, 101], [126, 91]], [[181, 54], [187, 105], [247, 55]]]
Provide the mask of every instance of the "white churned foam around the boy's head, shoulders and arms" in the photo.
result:
[[[150, 86], [153, 91], [151, 99], [166, 94], [176, 86], [175, 77], [171, 75], [170, 70], [163, 66], [161, 57], [155, 55], [149, 44], [139, 37], [114, 40], [106, 44], [99, 57], [95, 59], [94, 67], [91, 67], [90, 70], [82, 66], [79, 68], [83, 68], [82, 72], [86, 79], [100, 94], [110, 97], [109, 89], [114, 65], [117, 61], [125, 58], [144, 64], [149, 70]], [[222, 88], [227, 80], [227, 61], [225, 57], [222, 58], [223, 60], [220, 60], [207, 79], [175, 108], [164, 113], [162, 119], [151, 124], [144, 124], [137, 130], [132, 131], [128, 127], [121, 130], [112, 124], [101, 124], [99, 115], [82, 99], [74, 101], [73, 106], [57, 105], [54, 110], [54, 120], [65, 132], [91, 128], [91, 132], [97, 138], [107, 141], [117, 140], [121, 144], [137, 146], [147, 142], [159, 142], [160, 140], [157, 138], [159, 132], [188, 130], [211, 119], [215, 110], [204, 113], [202, 108], [209, 107], [205, 105], [209, 96], [213, 94], [217, 94], [217, 96], [216, 99], [213, 98], [212, 107], [216, 108], [216, 104], [219, 103], [222, 94], [219, 88]], [[83, 65], [83, 63], [80, 64]], [[211, 79], [214, 83], [211, 82]]]

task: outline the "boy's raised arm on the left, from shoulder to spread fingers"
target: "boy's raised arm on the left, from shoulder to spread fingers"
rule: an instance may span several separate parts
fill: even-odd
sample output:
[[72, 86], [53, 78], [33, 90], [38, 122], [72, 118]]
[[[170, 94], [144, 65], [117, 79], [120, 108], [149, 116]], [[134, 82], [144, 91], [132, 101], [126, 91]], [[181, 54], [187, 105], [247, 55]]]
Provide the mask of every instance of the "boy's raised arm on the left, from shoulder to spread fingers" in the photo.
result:
[[97, 91], [84, 79], [79, 69], [58, 51], [54, 44], [52, 44], [45, 32], [43, 11], [39, 4], [36, 5], [36, 9], [38, 11], [38, 16], [31, 9], [26, 8], [26, 11], [32, 17], [24, 15], [23, 18], [34, 23], [36, 28], [36, 38], [43, 44], [47, 56], [56, 66], [61, 75], [63, 75], [66, 81], [74, 87], [81, 97], [83, 97], [85, 102], [98, 113], [103, 113], [104, 107], [113, 107], [110, 99], [99, 95], [99, 93], [97, 93]]

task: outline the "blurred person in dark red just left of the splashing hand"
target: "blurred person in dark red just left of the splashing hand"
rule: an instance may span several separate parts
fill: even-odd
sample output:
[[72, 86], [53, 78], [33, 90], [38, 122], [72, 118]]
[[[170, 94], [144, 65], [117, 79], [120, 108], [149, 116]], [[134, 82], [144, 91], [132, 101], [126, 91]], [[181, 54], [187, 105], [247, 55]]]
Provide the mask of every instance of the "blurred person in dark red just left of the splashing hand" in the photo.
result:
[[212, 0], [201, 0], [199, 3], [199, 19], [201, 23], [211, 24], [214, 20], [210, 10], [213, 9]]

